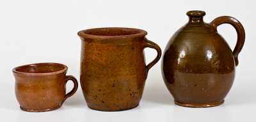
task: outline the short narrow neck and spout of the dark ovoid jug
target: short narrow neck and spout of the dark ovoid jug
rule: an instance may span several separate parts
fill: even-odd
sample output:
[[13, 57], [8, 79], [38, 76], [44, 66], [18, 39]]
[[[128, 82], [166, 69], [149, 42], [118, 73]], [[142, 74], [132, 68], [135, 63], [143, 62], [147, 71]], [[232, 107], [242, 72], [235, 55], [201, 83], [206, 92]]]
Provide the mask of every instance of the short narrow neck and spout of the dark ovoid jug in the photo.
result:
[[193, 25], [201, 25], [204, 24], [204, 15], [205, 15], [205, 11], [188, 11], [187, 15], [189, 17], [189, 24], [193, 24]]

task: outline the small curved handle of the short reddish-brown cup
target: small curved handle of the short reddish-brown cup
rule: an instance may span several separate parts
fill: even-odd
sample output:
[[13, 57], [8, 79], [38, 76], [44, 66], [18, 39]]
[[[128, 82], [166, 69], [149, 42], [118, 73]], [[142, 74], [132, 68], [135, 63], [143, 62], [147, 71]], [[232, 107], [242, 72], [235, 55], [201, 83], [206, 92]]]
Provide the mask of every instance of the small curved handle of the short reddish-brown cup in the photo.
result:
[[63, 102], [65, 102], [65, 100], [67, 100], [68, 97], [71, 97], [72, 95], [74, 95], [74, 93], [76, 93], [76, 90], [77, 90], [77, 87], [78, 87], [78, 83], [77, 83], [76, 78], [74, 76], [66, 76], [66, 81], [65, 81], [66, 83], [65, 84], [67, 84], [67, 82], [69, 80], [73, 81], [74, 88], [65, 95], [61, 104], [63, 104]]

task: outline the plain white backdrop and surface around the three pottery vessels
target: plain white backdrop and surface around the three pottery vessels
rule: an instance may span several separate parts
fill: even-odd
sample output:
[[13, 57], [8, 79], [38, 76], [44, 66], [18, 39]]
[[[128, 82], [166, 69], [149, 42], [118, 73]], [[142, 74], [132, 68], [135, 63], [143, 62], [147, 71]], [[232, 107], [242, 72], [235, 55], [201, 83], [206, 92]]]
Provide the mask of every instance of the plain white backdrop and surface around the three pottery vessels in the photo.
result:
[[[164, 86], [161, 62], [149, 72], [140, 106], [129, 111], [100, 112], [86, 106], [81, 88], [63, 106], [51, 112], [23, 112], [14, 94], [12, 68], [37, 62], [59, 62], [79, 80], [79, 30], [92, 27], [134, 27], [164, 50], [168, 39], [188, 22], [186, 11], [204, 10], [205, 22], [229, 15], [246, 31], [232, 90], [219, 107], [193, 109], [173, 104]], [[255, 2], [254, 1], [147, 1], [147, 0], [1, 0], [0, 1], [0, 121], [255, 121]], [[236, 31], [218, 28], [234, 48]], [[145, 50], [147, 62], [156, 52]], [[68, 89], [72, 83], [68, 83]]]

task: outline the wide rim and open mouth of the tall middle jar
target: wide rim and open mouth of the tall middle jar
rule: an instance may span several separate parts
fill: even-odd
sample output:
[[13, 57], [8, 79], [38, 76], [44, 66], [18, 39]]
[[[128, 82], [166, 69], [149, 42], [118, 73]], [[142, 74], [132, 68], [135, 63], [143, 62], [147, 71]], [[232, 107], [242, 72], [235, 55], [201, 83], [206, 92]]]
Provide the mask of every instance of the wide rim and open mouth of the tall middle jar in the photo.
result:
[[77, 35], [91, 39], [116, 39], [146, 36], [147, 31], [129, 27], [100, 27], [81, 30]]

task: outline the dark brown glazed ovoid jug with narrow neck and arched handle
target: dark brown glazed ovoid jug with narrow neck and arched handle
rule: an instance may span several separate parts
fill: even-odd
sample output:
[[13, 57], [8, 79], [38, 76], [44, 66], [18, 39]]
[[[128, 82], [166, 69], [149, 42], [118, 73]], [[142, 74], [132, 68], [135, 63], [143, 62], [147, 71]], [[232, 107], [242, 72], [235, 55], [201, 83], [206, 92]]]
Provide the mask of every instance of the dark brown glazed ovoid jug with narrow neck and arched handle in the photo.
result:
[[[243, 48], [243, 25], [236, 18], [223, 16], [204, 22], [204, 11], [188, 11], [189, 21], [168, 42], [163, 56], [164, 83], [175, 104], [184, 107], [213, 107], [224, 102]], [[232, 51], [218, 34], [221, 24], [232, 25], [237, 32]]]

